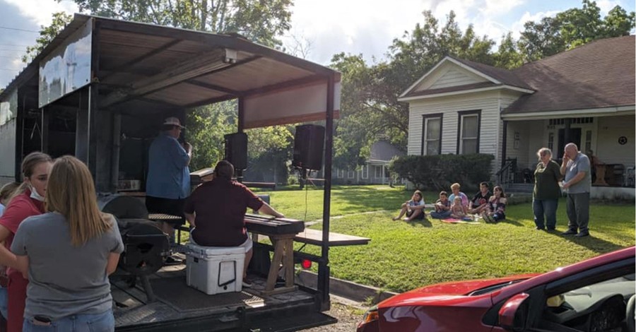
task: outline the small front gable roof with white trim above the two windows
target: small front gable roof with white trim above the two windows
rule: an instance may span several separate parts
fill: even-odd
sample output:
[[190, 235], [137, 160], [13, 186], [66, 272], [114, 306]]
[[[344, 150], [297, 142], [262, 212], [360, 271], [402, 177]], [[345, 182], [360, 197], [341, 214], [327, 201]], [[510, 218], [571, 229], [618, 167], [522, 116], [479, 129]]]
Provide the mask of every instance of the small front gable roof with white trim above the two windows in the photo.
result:
[[[423, 85], [427, 78], [435, 76], [435, 73], [441, 70], [440, 67], [444, 66], [444, 64], [453, 64], [454, 66], [459, 66], [461, 69], [464, 69], [464, 71], [468, 71], [469, 73], [482, 78], [484, 81], [463, 85], [446, 86], [444, 88], [429, 88], [425, 90], [419, 90], [418, 87], [420, 87], [420, 85]], [[469, 90], [491, 90], [495, 88], [508, 88], [511, 90], [519, 90], [524, 93], [533, 92], [532, 90], [530, 90], [529, 85], [524, 83], [524, 81], [519, 79], [516, 74], [512, 73], [511, 71], [488, 66], [485, 64], [479, 64], [477, 62], [469, 60], [446, 56], [435, 66], [433, 66], [432, 69], [430, 69], [427, 73], [420, 77], [418, 81], [408, 87], [404, 91], [404, 93], [399, 96], [398, 100], [407, 101], [411, 99], [417, 99], [417, 97], [426, 95], [458, 93], [466, 92]]]

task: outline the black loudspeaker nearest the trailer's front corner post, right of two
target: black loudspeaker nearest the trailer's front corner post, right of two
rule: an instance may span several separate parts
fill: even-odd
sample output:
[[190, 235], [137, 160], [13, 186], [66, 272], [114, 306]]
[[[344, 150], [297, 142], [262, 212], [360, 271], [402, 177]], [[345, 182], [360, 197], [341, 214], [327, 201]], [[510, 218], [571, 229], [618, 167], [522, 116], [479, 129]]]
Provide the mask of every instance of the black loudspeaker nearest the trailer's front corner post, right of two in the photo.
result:
[[296, 126], [292, 165], [307, 170], [320, 170], [322, 168], [323, 146], [324, 126], [315, 124]]

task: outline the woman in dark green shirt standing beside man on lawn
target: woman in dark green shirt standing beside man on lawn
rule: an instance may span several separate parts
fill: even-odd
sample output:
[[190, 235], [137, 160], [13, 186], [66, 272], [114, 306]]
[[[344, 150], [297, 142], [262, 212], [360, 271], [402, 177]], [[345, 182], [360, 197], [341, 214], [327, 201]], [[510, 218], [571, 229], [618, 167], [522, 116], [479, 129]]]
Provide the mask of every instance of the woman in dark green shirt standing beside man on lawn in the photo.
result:
[[539, 162], [534, 171], [534, 191], [532, 192], [534, 223], [536, 230], [545, 230], [546, 227], [548, 230], [555, 230], [556, 211], [561, 196], [560, 167], [557, 162], [552, 160], [550, 149], [540, 148], [536, 155]]

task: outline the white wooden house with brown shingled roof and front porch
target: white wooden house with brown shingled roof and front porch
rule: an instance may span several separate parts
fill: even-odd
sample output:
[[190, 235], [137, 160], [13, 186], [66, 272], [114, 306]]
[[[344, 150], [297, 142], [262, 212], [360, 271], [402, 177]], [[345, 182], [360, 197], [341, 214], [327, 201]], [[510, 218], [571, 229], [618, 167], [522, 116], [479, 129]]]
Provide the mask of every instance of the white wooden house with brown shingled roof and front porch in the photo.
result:
[[633, 183], [635, 81], [635, 36], [514, 70], [445, 57], [399, 96], [409, 104], [408, 154], [489, 153], [495, 172], [514, 160], [519, 173], [534, 171], [539, 148], [558, 159], [574, 142], [608, 165], [611, 184]]

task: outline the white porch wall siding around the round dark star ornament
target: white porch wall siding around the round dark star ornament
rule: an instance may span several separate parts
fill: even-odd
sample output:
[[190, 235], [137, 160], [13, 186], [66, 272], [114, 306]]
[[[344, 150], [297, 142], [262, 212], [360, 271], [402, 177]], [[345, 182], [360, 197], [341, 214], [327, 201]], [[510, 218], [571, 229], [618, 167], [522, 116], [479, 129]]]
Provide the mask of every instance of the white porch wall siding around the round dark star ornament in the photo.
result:
[[[634, 115], [623, 117], [596, 117], [598, 134], [594, 155], [606, 164], [623, 164], [633, 167], [636, 158]], [[625, 136], [627, 143], [620, 145], [618, 138]]]

